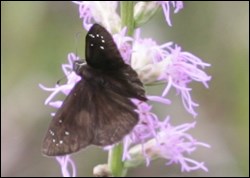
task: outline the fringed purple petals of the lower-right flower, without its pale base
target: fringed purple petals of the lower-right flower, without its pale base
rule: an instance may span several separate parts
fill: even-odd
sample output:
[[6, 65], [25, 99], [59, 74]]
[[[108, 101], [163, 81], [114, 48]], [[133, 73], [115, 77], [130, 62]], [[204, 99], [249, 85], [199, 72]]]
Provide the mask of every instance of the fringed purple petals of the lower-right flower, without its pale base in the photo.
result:
[[169, 160], [167, 165], [179, 163], [181, 171], [189, 172], [197, 169], [208, 171], [203, 162], [197, 162], [184, 155], [190, 155], [196, 150], [197, 146], [210, 148], [210, 145], [198, 142], [190, 134], [186, 133], [189, 129], [194, 128], [195, 124], [196, 122], [193, 122], [174, 127], [169, 123], [167, 117], [161, 123], [158, 137], [150, 141], [153, 141], [153, 143], [150, 143], [153, 146], [149, 147], [150, 150], [147, 151]]

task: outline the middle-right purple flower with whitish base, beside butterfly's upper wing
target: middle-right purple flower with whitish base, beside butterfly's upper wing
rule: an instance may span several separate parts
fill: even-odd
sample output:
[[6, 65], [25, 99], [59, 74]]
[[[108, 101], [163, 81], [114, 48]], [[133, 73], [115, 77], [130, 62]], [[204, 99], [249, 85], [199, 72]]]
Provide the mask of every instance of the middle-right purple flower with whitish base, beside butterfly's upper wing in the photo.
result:
[[143, 83], [167, 82], [162, 96], [165, 97], [171, 87], [181, 94], [185, 109], [194, 117], [197, 113], [194, 107], [198, 104], [192, 101], [191, 88], [187, 85], [192, 81], [201, 82], [208, 88], [207, 82], [211, 77], [202, 69], [210, 64], [189, 52], [181, 51], [181, 47], [167, 42], [158, 45], [153, 39], [140, 37], [137, 30], [134, 44], [131, 66], [137, 71]]

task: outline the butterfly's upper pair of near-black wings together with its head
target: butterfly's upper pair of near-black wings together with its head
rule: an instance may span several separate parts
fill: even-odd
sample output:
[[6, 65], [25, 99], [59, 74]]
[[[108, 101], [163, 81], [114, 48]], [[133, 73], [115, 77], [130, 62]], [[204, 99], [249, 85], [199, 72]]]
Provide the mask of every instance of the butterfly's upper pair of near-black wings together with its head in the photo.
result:
[[90, 68], [78, 66], [78, 75], [93, 81], [102, 79], [109, 82], [111, 90], [123, 96], [147, 100], [138, 75], [124, 63], [112, 35], [99, 24], [94, 24], [86, 35], [85, 55]]

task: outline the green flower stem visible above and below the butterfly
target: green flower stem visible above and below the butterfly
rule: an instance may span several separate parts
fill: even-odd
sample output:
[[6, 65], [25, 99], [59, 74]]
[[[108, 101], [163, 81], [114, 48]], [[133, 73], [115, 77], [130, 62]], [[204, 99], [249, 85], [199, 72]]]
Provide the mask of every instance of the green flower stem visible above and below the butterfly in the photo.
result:
[[[134, 2], [133, 1], [121, 1], [121, 19], [122, 26], [128, 28], [127, 34], [132, 36], [134, 33]], [[119, 143], [109, 151], [108, 167], [114, 177], [123, 177], [126, 175], [127, 169], [124, 167], [122, 161], [123, 144]]]

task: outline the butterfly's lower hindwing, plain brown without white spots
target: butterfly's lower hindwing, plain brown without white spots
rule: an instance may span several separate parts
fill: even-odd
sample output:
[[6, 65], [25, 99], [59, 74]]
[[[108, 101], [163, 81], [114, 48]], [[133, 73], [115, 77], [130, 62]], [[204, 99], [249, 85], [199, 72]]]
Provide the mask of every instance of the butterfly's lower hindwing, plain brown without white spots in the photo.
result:
[[136, 106], [122, 95], [108, 88], [101, 89], [102, 94], [95, 95], [94, 138], [92, 144], [99, 146], [112, 145], [127, 135], [138, 122]]

